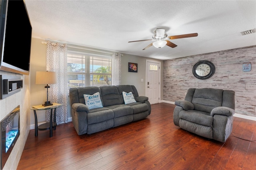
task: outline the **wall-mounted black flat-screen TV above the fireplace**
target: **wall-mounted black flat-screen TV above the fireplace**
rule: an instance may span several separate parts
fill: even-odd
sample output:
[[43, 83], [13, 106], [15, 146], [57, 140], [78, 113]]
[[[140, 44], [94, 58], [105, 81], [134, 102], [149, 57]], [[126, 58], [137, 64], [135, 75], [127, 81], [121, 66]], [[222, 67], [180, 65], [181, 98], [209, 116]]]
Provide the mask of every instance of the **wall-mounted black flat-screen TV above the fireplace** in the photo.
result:
[[29, 74], [32, 26], [24, 0], [2, 0], [0, 70]]

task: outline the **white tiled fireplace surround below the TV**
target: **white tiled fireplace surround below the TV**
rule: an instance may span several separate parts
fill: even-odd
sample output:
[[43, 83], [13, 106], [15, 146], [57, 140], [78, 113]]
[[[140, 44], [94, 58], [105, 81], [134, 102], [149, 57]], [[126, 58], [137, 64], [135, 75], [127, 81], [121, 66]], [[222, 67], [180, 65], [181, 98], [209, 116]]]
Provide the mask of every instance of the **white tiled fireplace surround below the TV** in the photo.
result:
[[20, 92], [0, 100], [0, 120], [20, 105], [20, 136], [3, 168], [3, 170], [11, 170], [18, 166], [30, 131], [30, 78], [29, 75], [7, 73], [5, 71], [0, 71], [0, 75], [20, 76], [23, 79], [23, 88]]

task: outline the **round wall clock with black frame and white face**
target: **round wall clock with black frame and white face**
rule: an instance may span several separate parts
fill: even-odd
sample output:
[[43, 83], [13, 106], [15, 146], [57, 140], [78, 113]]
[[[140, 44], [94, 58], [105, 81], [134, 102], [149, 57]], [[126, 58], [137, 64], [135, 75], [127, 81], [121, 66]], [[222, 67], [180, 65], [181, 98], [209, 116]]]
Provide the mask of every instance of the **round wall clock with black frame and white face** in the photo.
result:
[[215, 72], [214, 64], [210, 61], [198, 61], [193, 67], [193, 75], [198, 79], [209, 79]]

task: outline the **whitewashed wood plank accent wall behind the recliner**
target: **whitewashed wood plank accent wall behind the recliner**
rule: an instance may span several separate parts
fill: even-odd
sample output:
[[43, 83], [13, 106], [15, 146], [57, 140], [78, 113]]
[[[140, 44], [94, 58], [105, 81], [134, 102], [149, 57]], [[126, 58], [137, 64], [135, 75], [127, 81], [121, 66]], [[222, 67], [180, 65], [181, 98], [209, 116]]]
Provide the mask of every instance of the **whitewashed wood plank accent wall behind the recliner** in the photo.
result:
[[[200, 80], [192, 73], [194, 64], [201, 60], [215, 66], [210, 79]], [[251, 71], [242, 71], [245, 62], [251, 63]], [[231, 89], [236, 92], [236, 113], [256, 117], [256, 45], [164, 60], [163, 72], [165, 101], [184, 99], [189, 88]]]

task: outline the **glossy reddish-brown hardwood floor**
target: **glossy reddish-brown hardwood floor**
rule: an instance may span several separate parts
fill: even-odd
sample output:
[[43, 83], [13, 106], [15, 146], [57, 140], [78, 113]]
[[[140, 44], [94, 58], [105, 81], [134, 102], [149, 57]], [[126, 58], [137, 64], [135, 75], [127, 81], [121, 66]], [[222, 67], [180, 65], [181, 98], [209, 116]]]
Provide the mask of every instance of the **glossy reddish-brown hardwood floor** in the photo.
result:
[[[72, 123], [30, 130], [18, 170], [255, 170], [256, 122], [234, 117], [225, 143], [192, 134], [173, 123], [175, 105], [152, 105], [146, 119], [91, 135]], [[247, 140], [243, 140], [240, 138]]]

